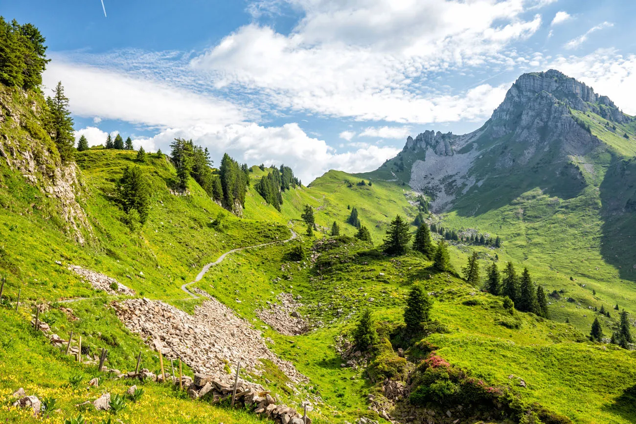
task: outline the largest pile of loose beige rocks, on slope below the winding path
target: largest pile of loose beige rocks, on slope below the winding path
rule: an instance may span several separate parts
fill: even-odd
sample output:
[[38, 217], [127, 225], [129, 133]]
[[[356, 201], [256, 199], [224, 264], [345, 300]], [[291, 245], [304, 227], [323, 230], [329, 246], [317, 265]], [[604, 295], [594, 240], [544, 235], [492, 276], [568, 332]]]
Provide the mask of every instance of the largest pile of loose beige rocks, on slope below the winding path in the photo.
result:
[[230, 377], [226, 364], [240, 362], [260, 375], [259, 359], [268, 359], [293, 383], [307, 381], [291, 362], [279, 359], [267, 348], [261, 332], [216, 299], [197, 306], [194, 315], [146, 298], [128, 299], [113, 306], [130, 331], [149, 340], [169, 359], [181, 358], [195, 373], [223, 380]]

